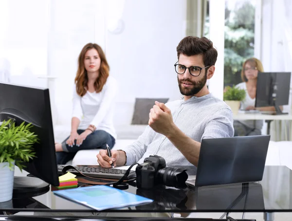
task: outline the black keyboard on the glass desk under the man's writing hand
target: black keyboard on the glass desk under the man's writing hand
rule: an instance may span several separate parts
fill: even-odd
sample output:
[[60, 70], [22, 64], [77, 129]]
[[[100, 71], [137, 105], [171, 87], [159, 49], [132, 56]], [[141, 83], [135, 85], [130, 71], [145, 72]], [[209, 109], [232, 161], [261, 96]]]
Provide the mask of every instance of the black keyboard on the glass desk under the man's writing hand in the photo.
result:
[[[62, 174], [62, 169], [68, 165], [58, 165], [58, 174]], [[97, 177], [97, 178], [109, 178], [109, 179], [121, 179], [124, 174], [127, 172], [126, 169], [113, 169], [113, 168], [102, 168], [102, 167], [89, 167], [89, 166], [74, 166], [81, 173], [89, 177]], [[74, 169], [68, 169], [67, 172], [71, 172], [75, 175], [80, 175]], [[135, 171], [130, 171], [128, 178], [131, 179], [136, 177]]]

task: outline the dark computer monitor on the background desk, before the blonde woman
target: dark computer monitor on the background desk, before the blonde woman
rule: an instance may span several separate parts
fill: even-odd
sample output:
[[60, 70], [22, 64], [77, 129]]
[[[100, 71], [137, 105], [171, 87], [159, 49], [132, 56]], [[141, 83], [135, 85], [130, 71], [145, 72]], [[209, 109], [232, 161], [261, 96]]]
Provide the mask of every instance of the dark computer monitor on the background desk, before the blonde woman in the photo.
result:
[[259, 72], [256, 83], [256, 108], [274, 106], [273, 114], [283, 113], [279, 106], [289, 104], [291, 72]]

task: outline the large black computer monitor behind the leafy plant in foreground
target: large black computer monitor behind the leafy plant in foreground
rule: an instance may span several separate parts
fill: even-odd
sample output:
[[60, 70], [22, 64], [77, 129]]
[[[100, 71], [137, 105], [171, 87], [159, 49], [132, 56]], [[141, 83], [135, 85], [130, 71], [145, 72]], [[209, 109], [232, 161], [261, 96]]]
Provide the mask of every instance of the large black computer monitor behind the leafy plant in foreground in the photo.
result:
[[[31, 123], [39, 138], [39, 144], [34, 145], [37, 157], [25, 163], [24, 170], [48, 184], [59, 185], [49, 89], [0, 83], [0, 94], [0, 122], [13, 119], [16, 126], [23, 121]], [[26, 185], [30, 185], [27, 180]]]

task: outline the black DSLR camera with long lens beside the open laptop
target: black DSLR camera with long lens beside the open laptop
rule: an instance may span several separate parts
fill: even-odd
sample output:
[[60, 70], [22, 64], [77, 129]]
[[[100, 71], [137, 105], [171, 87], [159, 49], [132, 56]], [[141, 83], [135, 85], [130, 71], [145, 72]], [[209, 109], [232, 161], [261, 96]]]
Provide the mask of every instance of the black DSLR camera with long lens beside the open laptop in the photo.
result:
[[188, 175], [186, 169], [166, 167], [163, 157], [151, 155], [136, 167], [136, 177], [137, 187], [142, 189], [151, 189], [156, 185], [186, 188]]

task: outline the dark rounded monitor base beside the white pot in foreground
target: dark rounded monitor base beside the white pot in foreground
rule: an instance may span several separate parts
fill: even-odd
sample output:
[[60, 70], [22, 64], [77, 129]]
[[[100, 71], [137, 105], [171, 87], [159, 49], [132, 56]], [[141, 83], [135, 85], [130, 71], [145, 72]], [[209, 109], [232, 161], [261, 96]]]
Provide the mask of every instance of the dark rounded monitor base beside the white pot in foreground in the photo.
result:
[[50, 184], [37, 177], [14, 177], [13, 198], [35, 197], [50, 190]]

